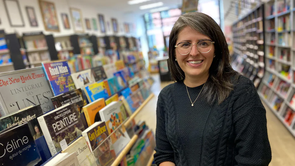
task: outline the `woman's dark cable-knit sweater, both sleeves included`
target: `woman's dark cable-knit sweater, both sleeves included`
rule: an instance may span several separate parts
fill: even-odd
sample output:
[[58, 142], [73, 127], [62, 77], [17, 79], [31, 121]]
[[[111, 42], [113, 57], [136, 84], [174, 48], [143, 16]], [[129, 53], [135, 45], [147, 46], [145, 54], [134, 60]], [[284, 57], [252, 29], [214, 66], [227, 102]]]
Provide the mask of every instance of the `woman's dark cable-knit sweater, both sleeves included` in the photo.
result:
[[[188, 88], [195, 101], [203, 85]], [[157, 165], [265, 166], [271, 160], [265, 109], [253, 82], [239, 76], [222, 104], [200, 94], [194, 106], [181, 82], [166, 86], [157, 104]]]

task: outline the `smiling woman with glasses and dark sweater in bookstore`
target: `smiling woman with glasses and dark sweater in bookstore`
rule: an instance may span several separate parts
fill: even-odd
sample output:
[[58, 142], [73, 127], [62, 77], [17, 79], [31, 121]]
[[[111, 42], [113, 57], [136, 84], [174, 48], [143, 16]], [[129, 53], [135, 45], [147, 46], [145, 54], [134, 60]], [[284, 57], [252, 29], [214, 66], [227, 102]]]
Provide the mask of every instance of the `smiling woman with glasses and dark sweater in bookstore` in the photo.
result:
[[159, 94], [159, 166], [264, 166], [271, 160], [265, 109], [253, 82], [235, 72], [218, 24], [203, 13], [179, 17], [169, 40], [177, 81]]

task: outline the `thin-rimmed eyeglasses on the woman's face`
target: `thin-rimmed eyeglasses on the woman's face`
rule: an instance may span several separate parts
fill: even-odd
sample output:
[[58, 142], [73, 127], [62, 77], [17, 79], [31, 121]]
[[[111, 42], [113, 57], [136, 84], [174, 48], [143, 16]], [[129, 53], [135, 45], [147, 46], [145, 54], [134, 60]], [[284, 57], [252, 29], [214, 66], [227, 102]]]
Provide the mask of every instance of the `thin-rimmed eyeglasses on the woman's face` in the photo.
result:
[[[211, 50], [212, 44], [214, 44], [214, 41], [211, 40], [200, 40], [198, 43], [195, 43], [197, 45], [197, 49], [201, 53], [207, 53]], [[178, 43], [175, 45], [177, 51], [181, 55], [187, 55], [191, 52], [191, 47], [194, 44], [191, 44], [189, 42], [183, 42], [183, 43]]]

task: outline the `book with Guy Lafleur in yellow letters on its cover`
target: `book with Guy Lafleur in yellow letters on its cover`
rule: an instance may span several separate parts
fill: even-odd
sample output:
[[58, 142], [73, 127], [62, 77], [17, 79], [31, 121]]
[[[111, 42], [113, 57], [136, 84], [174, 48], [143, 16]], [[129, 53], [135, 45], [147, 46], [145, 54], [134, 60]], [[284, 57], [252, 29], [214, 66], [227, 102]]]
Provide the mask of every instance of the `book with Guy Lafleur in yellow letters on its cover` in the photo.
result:
[[95, 122], [82, 132], [82, 136], [84, 136], [90, 151], [93, 152], [108, 137], [105, 122]]

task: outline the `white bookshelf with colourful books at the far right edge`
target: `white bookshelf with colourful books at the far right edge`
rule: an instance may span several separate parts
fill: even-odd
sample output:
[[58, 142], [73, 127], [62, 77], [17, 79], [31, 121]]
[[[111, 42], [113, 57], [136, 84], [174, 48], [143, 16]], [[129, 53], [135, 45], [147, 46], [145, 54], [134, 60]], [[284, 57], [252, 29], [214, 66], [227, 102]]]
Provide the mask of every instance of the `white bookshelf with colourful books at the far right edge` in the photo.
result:
[[258, 94], [295, 136], [294, 1], [265, 3], [265, 77]]

